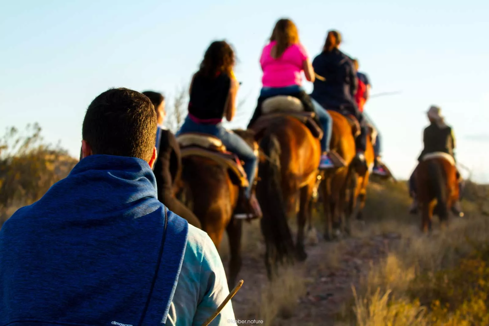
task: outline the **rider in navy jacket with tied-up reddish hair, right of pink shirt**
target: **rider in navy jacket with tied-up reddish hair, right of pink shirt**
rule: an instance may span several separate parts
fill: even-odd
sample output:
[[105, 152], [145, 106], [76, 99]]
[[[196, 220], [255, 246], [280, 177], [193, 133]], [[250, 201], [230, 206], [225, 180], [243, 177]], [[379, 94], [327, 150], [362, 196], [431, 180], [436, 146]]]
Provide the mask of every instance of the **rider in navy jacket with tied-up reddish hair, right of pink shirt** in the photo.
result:
[[329, 31], [323, 51], [312, 61], [316, 78], [311, 98], [325, 109], [347, 112], [356, 117], [361, 127], [356, 139], [356, 158], [365, 162], [367, 125], [355, 102], [356, 70], [350, 57], [339, 50], [340, 43], [341, 34]]

